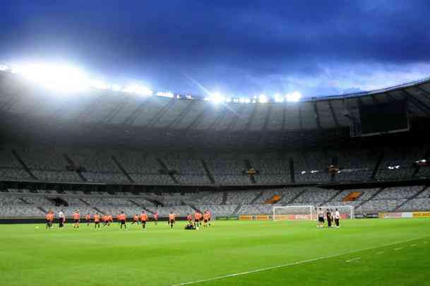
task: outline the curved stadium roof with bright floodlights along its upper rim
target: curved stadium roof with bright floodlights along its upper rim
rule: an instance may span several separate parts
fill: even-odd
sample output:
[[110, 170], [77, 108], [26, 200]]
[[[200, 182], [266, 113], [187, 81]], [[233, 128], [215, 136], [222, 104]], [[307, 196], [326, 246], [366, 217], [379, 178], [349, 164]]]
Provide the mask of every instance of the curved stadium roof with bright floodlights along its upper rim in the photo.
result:
[[[270, 143], [276, 145], [297, 134], [345, 132], [350, 126], [348, 114], [359, 105], [398, 100], [407, 100], [410, 119], [430, 117], [430, 79], [367, 93], [316, 97], [300, 102], [246, 104], [132, 96], [112, 90], [58, 95], [29, 85], [11, 73], [0, 72], [0, 109], [14, 121], [25, 118], [29, 122], [30, 118], [32, 122], [49, 122], [50, 126], [74, 126], [71, 129], [76, 131], [77, 127], [104, 126], [103, 130], [109, 130], [110, 136], [115, 138], [133, 138], [133, 134], [141, 132], [145, 138], [139, 140], [144, 142], [151, 138], [153, 144], [172, 134], [200, 133], [205, 137], [204, 134], [212, 133], [220, 144], [224, 144], [220, 140], [225, 138], [226, 144], [258, 141], [261, 147]], [[204, 141], [204, 138], [193, 137], [191, 143], [185, 145], [199, 140]], [[178, 142], [174, 139], [171, 143]]]

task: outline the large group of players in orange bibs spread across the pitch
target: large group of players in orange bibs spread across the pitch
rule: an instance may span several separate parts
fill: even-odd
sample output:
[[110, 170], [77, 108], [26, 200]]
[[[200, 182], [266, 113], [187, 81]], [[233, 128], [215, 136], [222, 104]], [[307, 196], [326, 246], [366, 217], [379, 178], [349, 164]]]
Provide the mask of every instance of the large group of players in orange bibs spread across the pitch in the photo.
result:
[[[47, 229], [54, 228], [53, 226], [54, 212], [50, 210], [45, 216], [45, 218], [46, 218], [46, 228]], [[186, 220], [188, 221], [188, 223], [193, 225], [193, 227], [195, 227], [196, 229], [198, 229], [198, 227], [201, 226], [202, 224], [203, 224], [203, 227], [210, 226], [210, 218], [211, 218], [211, 214], [209, 210], [205, 210], [203, 214], [200, 211], [196, 210], [196, 213], [194, 213], [194, 218], [189, 213], [186, 215]], [[141, 215], [138, 215], [138, 214], [133, 215], [131, 225], [141, 224], [143, 230], [145, 230], [146, 223], [149, 220], [150, 220], [150, 217], [145, 212], [145, 210], [143, 210]], [[157, 222], [158, 222], [157, 212], [153, 214], [152, 220], [155, 222], [155, 225], [157, 225]], [[59, 229], [63, 228], [64, 223], [66, 222], [66, 215], [64, 214], [63, 210], [61, 210], [58, 213], [58, 221], [59, 221]], [[95, 213], [95, 215], [92, 215], [91, 217], [91, 215], [88, 213], [87, 215], [85, 215], [85, 221], [87, 226], [89, 226], [91, 222], [94, 222], [95, 230], [100, 230], [100, 225], [102, 225], [103, 227], [108, 227], [114, 222], [114, 219], [112, 215]], [[121, 211], [121, 213], [117, 215], [117, 221], [119, 223], [120, 230], [127, 230], [127, 224], [126, 224], [127, 217], [124, 214], [124, 211]], [[79, 213], [79, 210], [75, 210], [75, 212], [73, 213], [73, 229], [78, 230], [79, 224], [80, 224], [80, 213]], [[173, 212], [170, 212], [167, 225], [170, 225], [170, 228], [173, 228], [175, 224], [176, 224], [176, 215]]]

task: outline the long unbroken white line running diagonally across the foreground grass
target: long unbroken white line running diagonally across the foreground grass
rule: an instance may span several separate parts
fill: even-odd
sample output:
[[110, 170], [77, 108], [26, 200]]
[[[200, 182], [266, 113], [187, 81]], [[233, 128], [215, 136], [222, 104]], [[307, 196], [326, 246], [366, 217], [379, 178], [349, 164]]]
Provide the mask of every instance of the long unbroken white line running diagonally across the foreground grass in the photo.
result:
[[407, 239], [407, 240], [404, 240], [402, 242], [392, 242], [390, 244], [383, 244], [383, 245], [380, 245], [380, 246], [368, 247], [366, 249], [358, 249], [358, 250], [353, 250], [353, 251], [347, 251], [347, 252], [344, 252], [342, 254], [333, 254], [333, 255], [328, 255], [328, 256], [321, 256], [321, 257], [307, 259], [307, 260], [303, 260], [303, 261], [296, 261], [296, 262], [292, 262], [292, 263], [281, 264], [281, 265], [278, 265], [278, 266], [270, 266], [270, 267], [265, 267], [265, 268], [260, 268], [260, 269], [245, 271], [245, 272], [239, 272], [239, 273], [233, 273], [233, 274], [227, 274], [227, 275], [217, 276], [217, 277], [213, 277], [213, 278], [206, 278], [206, 279], [194, 280], [194, 281], [190, 281], [190, 282], [177, 283], [177, 284], [173, 284], [172, 286], [191, 285], [191, 284], [196, 284], [196, 283], [201, 283], [201, 282], [209, 282], [209, 281], [220, 280], [220, 279], [224, 279], [224, 278], [230, 278], [230, 277], [237, 277], [237, 276], [242, 276], [242, 275], [248, 275], [248, 274], [251, 274], [251, 273], [258, 273], [258, 272], [267, 271], [267, 270], [273, 270], [273, 269], [277, 269], [277, 268], [285, 268], [285, 267], [289, 267], [289, 266], [296, 266], [296, 265], [299, 265], [299, 264], [309, 263], [309, 262], [313, 262], [313, 261], [319, 261], [319, 260], [322, 260], [322, 259], [335, 258], [335, 257], [338, 257], [338, 256], [347, 255], [347, 254], [355, 254], [355, 253], [361, 252], [361, 251], [368, 251], [368, 250], [372, 250], [372, 249], [380, 249], [381, 247], [392, 246], [392, 245], [395, 245], [395, 244], [402, 244], [402, 243], [405, 243], [405, 242], [413, 242], [414, 240], [423, 239], [423, 238], [425, 238], [425, 237], [417, 237], [417, 238], [414, 238], [414, 239]]

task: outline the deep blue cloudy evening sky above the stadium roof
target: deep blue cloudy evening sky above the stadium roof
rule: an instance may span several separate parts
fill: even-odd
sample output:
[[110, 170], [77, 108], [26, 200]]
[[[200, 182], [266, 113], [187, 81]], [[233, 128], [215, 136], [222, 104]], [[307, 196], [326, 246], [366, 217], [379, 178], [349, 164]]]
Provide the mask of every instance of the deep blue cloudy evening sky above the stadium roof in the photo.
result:
[[430, 1], [19, 1], [0, 62], [67, 61], [155, 90], [305, 96], [430, 76]]

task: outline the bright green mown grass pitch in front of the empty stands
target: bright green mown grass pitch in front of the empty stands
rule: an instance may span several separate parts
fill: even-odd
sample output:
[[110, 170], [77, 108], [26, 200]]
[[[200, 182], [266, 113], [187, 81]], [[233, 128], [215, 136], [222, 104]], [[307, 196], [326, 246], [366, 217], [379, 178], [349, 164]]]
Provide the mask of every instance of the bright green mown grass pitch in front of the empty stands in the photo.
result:
[[430, 285], [425, 218], [0, 229], [0, 285]]

